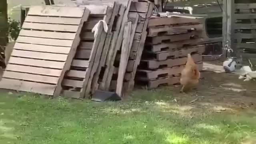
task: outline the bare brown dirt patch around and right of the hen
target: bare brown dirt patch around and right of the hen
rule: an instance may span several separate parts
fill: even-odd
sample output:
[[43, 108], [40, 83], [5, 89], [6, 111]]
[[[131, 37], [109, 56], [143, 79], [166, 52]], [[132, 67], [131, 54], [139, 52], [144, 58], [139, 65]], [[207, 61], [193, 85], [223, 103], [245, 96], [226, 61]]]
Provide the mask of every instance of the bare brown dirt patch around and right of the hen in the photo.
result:
[[239, 80], [238, 75], [223, 72], [219, 65], [204, 63], [204, 79], [200, 80], [198, 88], [179, 93], [180, 86], [176, 87], [174, 98], [181, 105], [212, 107], [216, 112], [256, 109], [256, 81]]

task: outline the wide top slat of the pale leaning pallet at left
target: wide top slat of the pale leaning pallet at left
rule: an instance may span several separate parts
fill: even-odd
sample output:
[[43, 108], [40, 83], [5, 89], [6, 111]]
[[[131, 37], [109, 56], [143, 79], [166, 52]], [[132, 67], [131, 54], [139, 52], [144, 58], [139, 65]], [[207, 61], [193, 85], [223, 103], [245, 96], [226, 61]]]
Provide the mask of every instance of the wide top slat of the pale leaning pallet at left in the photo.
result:
[[69, 6], [31, 6], [28, 15], [82, 18], [85, 8]]

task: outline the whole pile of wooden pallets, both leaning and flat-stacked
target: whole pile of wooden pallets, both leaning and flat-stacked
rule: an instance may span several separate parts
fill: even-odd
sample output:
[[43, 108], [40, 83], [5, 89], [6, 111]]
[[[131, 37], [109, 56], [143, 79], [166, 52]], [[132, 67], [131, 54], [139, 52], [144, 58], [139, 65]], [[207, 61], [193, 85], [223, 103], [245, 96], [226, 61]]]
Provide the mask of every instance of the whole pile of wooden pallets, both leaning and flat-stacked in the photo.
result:
[[[145, 0], [79, 0], [32, 6], [0, 88], [90, 98], [123, 96], [136, 83], [176, 84], [192, 54], [202, 69], [202, 23], [192, 16], [152, 16]], [[57, 26], [58, 25], [58, 26]]]

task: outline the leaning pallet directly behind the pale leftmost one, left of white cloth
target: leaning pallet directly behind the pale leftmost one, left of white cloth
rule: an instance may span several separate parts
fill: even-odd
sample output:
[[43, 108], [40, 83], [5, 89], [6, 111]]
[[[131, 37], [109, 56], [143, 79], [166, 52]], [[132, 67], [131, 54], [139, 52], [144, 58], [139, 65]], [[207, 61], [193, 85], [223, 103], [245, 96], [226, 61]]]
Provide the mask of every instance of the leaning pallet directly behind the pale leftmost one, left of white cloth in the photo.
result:
[[92, 29], [99, 22], [111, 23], [113, 9], [106, 5], [84, 5], [90, 10], [88, 21], [84, 24], [80, 35], [81, 41], [72, 61], [72, 67], [63, 80], [63, 95], [72, 98], [84, 98], [86, 88], [91, 85], [92, 74], [97, 70], [100, 55], [106, 39], [104, 24], [100, 22], [98, 34], [94, 37]]

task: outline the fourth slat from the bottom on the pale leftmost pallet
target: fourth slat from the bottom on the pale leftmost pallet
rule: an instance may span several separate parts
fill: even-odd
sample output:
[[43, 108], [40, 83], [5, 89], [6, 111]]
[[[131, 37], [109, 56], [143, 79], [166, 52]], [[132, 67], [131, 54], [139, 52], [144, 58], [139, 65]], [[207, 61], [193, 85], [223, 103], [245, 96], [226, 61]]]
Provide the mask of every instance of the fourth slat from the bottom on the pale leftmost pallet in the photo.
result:
[[26, 66], [37, 66], [42, 68], [62, 69], [65, 62], [54, 62], [49, 60], [35, 60], [30, 58], [10, 57], [8, 64], [20, 64]]

